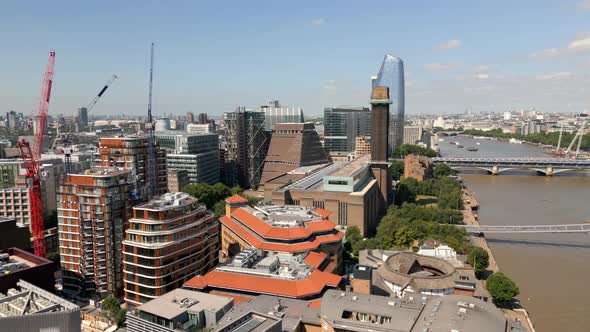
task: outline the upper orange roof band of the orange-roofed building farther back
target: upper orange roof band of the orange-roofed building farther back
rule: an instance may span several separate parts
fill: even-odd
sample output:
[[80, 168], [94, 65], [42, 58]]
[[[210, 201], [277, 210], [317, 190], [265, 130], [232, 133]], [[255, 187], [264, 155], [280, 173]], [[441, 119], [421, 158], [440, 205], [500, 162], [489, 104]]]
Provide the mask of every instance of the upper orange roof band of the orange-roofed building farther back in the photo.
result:
[[336, 224], [326, 219], [308, 221], [305, 223], [305, 227], [273, 227], [264, 220], [261, 220], [260, 218], [252, 215], [245, 209], [237, 209], [231, 214], [231, 217], [237, 219], [240, 223], [246, 225], [261, 237], [268, 239], [305, 239], [314, 233], [327, 232], [333, 230], [336, 227]]

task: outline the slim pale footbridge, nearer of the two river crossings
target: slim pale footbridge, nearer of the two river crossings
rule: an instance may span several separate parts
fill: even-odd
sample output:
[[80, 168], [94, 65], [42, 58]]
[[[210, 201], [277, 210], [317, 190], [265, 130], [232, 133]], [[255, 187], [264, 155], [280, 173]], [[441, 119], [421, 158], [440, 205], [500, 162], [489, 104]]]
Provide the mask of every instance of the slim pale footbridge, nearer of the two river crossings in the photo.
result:
[[519, 225], [519, 226], [473, 226], [457, 225], [465, 228], [467, 233], [485, 234], [530, 234], [530, 233], [590, 233], [590, 224], [569, 225]]

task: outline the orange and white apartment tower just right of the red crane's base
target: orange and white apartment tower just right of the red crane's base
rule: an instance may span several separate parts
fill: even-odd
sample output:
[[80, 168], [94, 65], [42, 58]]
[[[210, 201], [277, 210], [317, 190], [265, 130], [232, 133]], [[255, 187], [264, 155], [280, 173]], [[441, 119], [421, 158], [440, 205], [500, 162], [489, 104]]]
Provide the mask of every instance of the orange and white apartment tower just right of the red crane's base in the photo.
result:
[[63, 290], [82, 298], [123, 293], [123, 236], [131, 215], [131, 171], [69, 174], [58, 193]]

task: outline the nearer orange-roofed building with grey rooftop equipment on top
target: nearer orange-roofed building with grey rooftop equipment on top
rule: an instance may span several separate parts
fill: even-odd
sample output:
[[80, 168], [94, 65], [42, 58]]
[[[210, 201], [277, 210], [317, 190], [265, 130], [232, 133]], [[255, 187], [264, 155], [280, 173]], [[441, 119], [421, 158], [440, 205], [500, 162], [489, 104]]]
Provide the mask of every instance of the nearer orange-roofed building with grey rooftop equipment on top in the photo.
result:
[[250, 248], [206, 275], [192, 278], [184, 288], [236, 301], [261, 294], [313, 300], [326, 289], [339, 287], [342, 281], [341, 276], [328, 270], [328, 261], [323, 253], [290, 254]]

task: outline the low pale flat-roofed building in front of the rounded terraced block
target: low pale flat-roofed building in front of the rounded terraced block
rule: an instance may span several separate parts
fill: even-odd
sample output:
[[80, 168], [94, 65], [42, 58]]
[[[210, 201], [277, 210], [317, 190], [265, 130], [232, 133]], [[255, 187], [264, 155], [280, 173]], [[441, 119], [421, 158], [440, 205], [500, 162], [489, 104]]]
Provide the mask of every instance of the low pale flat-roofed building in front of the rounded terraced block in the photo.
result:
[[129, 332], [210, 331], [233, 307], [233, 300], [175, 289], [127, 313]]

